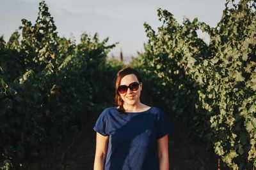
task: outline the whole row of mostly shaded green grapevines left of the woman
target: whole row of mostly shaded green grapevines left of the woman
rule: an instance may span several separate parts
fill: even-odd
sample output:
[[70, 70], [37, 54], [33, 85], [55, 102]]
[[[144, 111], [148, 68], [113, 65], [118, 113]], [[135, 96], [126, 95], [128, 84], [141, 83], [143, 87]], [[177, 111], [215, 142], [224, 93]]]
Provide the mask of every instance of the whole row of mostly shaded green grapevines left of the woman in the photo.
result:
[[44, 1], [22, 36], [0, 38], [0, 168], [20, 169], [74, 137], [86, 118], [113, 101], [121, 65], [107, 61], [115, 45], [98, 34], [81, 43], [60, 38]]

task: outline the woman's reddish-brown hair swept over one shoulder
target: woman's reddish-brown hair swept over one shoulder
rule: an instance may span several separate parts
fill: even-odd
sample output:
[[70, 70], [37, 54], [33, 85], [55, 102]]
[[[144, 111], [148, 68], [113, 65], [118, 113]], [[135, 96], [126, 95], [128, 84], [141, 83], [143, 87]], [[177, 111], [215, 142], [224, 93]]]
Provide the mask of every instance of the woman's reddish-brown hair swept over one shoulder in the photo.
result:
[[134, 74], [138, 78], [139, 83], [141, 83], [141, 76], [138, 73], [138, 71], [136, 71], [136, 69], [126, 66], [126, 67], [120, 69], [120, 71], [118, 71], [118, 73], [116, 74], [115, 103], [117, 106], [119, 106], [118, 111], [120, 113], [124, 113], [125, 110], [124, 110], [124, 106], [123, 106], [124, 101], [122, 100], [122, 98], [118, 92], [118, 87], [120, 86], [120, 82], [121, 82], [122, 78], [128, 74]]

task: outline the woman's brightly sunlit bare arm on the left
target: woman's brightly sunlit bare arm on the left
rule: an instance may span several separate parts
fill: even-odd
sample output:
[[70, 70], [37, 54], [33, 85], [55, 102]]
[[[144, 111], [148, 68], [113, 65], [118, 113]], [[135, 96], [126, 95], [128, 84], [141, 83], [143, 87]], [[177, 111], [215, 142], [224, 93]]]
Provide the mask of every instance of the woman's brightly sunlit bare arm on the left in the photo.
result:
[[102, 136], [96, 132], [96, 150], [93, 170], [103, 170], [108, 149], [109, 136]]

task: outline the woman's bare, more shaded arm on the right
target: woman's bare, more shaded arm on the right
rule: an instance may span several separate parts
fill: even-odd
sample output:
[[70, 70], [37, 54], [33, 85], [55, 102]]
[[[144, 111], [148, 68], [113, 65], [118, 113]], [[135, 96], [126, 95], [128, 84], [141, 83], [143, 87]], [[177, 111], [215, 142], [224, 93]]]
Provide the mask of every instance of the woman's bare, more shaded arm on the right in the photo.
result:
[[169, 170], [168, 134], [157, 140], [159, 170]]

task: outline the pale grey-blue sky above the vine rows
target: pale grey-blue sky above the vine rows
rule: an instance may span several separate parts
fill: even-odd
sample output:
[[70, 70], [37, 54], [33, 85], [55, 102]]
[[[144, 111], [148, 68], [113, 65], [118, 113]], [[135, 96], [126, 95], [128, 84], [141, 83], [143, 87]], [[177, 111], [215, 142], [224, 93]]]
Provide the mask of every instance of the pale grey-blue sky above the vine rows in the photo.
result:
[[[0, 0], [0, 36], [8, 41], [19, 28], [21, 19], [35, 23], [40, 0]], [[118, 42], [110, 55], [136, 57], [143, 52], [147, 36], [143, 23], [155, 31], [161, 26], [157, 8], [168, 10], [182, 24], [184, 17], [198, 18], [216, 27], [225, 8], [225, 0], [45, 0], [54, 18], [59, 36], [73, 37], [79, 43], [83, 32], [109, 38], [108, 45]], [[205, 34], [201, 34], [207, 39]]]

